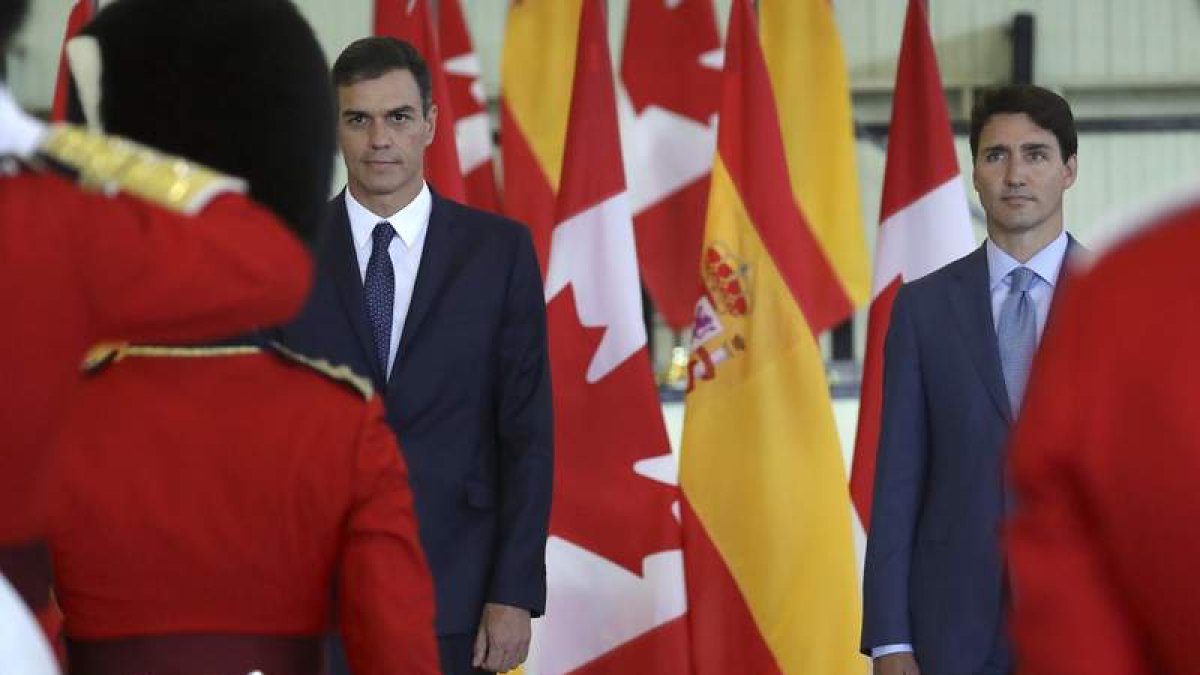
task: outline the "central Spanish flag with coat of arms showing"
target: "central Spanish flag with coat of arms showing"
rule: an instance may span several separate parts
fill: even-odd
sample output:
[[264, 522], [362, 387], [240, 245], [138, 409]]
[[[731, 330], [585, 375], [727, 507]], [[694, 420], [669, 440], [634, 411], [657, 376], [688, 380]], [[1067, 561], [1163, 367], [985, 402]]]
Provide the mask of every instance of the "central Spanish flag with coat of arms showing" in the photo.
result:
[[[827, 7], [780, 2], [793, 4]], [[762, 5], [766, 25], [780, 10]], [[833, 177], [797, 190], [778, 101], [802, 90], [775, 89], [755, 24], [750, 0], [734, 0], [691, 339], [680, 467], [691, 662], [701, 675], [860, 675], [851, 503], [816, 336], [846, 316], [865, 274], [840, 274], [853, 256], [833, 241], [850, 237], [833, 225], [820, 234], [806, 208]], [[803, 100], [815, 118], [828, 103]]]

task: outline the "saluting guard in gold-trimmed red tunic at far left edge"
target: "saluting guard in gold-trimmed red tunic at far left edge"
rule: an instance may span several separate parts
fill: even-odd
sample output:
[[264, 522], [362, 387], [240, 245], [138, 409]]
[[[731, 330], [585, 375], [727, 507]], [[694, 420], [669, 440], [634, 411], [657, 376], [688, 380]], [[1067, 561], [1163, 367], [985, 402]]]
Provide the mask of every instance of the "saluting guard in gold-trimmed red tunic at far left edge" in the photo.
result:
[[[0, 2], [0, 47], [26, 4]], [[275, 215], [240, 193], [244, 181], [98, 133], [47, 129], [2, 85], [0, 168], [0, 572], [43, 611], [52, 437], [88, 347], [281, 321], [304, 301], [310, 262]], [[328, 177], [314, 169], [299, 166], [280, 183], [304, 193]]]

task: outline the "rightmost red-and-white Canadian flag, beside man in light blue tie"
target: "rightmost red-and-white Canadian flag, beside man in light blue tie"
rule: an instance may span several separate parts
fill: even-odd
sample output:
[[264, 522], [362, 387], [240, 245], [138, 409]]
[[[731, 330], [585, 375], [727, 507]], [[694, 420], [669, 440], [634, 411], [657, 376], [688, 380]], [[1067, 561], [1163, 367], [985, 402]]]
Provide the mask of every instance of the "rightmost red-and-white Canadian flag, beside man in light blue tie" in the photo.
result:
[[851, 496], [868, 533], [883, 398], [883, 342], [896, 291], [902, 282], [919, 279], [974, 247], [924, 0], [908, 1], [880, 210], [874, 299], [850, 476]]

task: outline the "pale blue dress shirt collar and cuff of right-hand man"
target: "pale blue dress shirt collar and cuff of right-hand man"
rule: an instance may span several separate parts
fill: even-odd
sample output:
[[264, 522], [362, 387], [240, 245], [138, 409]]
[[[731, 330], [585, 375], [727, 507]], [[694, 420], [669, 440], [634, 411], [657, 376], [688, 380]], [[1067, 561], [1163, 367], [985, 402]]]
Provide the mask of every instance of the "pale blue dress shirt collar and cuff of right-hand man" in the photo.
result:
[[[992, 330], [1000, 325], [1000, 307], [1008, 297], [1008, 289], [1013, 286], [1013, 280], [1008, 274], [1021, 267], [1021, 263], [1009, 256], [991, 239], [984, 244], [988, 252], [988, 289], [991, 293], [991, 325]], [[1025, 267], [1033, 270], [1033, 285], [1030, 287], [1030, 297], [1033, 299], [1033, 309], [1038, 319], [1038, 342], [1042, 341], [1042, 333], [1046, 327], [1046, 317], [1050, 316], [1050, 301], [1054, 300], [1054, 289], [1058, 285], [1058, 273], [1067, 257], [1067, 231], [1058, 233], [1054, 241], [1049, 243], [1040, 251], [1034, 253]], [[912, 645], [896, 643], [881, 645], [871, 649], [871, 658], [880, 658], [889, 653], [911, 652]]]

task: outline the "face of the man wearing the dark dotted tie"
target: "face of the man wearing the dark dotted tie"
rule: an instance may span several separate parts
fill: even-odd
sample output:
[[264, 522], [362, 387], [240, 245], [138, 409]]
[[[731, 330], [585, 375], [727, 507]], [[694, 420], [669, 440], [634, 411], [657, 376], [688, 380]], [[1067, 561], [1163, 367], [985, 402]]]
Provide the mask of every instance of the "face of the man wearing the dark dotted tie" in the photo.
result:
[[433, 142], [437, 107], [421, 112], [421, 91], [408, 70], [337, 88], [337, 143], [350, 187], [362, 199], [416, 197], [425, 148]]

